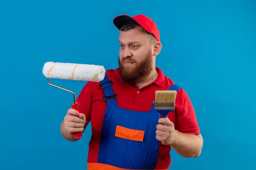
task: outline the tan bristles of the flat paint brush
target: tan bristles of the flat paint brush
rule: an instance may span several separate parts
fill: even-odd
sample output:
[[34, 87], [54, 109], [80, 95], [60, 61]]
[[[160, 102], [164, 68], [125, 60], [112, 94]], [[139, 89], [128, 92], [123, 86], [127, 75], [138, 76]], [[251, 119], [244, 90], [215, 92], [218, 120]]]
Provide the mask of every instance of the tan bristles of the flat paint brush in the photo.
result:
[[176, 91], [155, 91], [155, 102], [175, 102]]

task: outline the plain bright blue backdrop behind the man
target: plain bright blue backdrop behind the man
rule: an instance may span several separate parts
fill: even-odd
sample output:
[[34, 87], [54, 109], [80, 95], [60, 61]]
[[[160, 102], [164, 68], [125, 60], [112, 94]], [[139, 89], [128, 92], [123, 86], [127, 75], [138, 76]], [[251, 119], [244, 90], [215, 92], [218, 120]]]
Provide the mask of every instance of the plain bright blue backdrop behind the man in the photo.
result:
[[[255, 169], [256, 1], [0, 1], [0, 169], [86, 170], [91, 128], [77, 142], [59, 126], [72, 95], [49, 86], [43, 64], [117, 68], [112, 19], [152, 18], [157, 66], [189, 94], [204, 137], [200, 157], [171, 151], [175, 170]], [[85, 82], [53, 79], [77, 95]]]

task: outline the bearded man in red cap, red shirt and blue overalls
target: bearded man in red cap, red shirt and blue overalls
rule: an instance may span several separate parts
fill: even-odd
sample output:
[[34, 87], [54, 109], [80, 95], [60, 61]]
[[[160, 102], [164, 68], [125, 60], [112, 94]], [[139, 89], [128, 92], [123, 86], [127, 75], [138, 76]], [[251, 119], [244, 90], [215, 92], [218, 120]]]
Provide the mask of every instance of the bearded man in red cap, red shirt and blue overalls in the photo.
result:
[[198, 157], [202, 136], [189, 97], [178, 88], [175, 110], [166, 118], [154, 110], [156, 90], [174, 82], [155, 67], [162, 44], [153, 20], [145, 15], [119, 15], [119, 68], [106, 71], [102, 82], [88, 82], [77, 102], [79, 111], [67, 111], [61, 133], [76, 141], [89, 121], [88, 170], [158, 169], [171, 165], [173, 148], [183, 157]]

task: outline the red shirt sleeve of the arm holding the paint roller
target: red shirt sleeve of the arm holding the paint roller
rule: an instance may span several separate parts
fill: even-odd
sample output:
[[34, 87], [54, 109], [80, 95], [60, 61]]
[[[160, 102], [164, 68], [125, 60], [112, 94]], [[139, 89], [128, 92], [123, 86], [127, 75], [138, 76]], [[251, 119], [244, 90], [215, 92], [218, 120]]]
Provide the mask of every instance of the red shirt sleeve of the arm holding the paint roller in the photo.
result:
[[79, 113], [85, 114], [87, 121], [91, 120], [92, 97], [94, 93], [94, 88], [94, 82], [86, 83], [76, 99], [76, 102], [79, 102]]

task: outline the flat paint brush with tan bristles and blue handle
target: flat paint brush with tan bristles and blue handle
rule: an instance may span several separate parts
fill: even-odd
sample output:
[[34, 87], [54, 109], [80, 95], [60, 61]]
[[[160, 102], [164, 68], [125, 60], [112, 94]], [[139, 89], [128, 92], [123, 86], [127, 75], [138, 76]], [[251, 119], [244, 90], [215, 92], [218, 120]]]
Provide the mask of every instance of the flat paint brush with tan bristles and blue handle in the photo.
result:
[[177, 91], [155, 91], [155, 110], [157, 110], [162, 118], [175, 109], [175, 99]]

